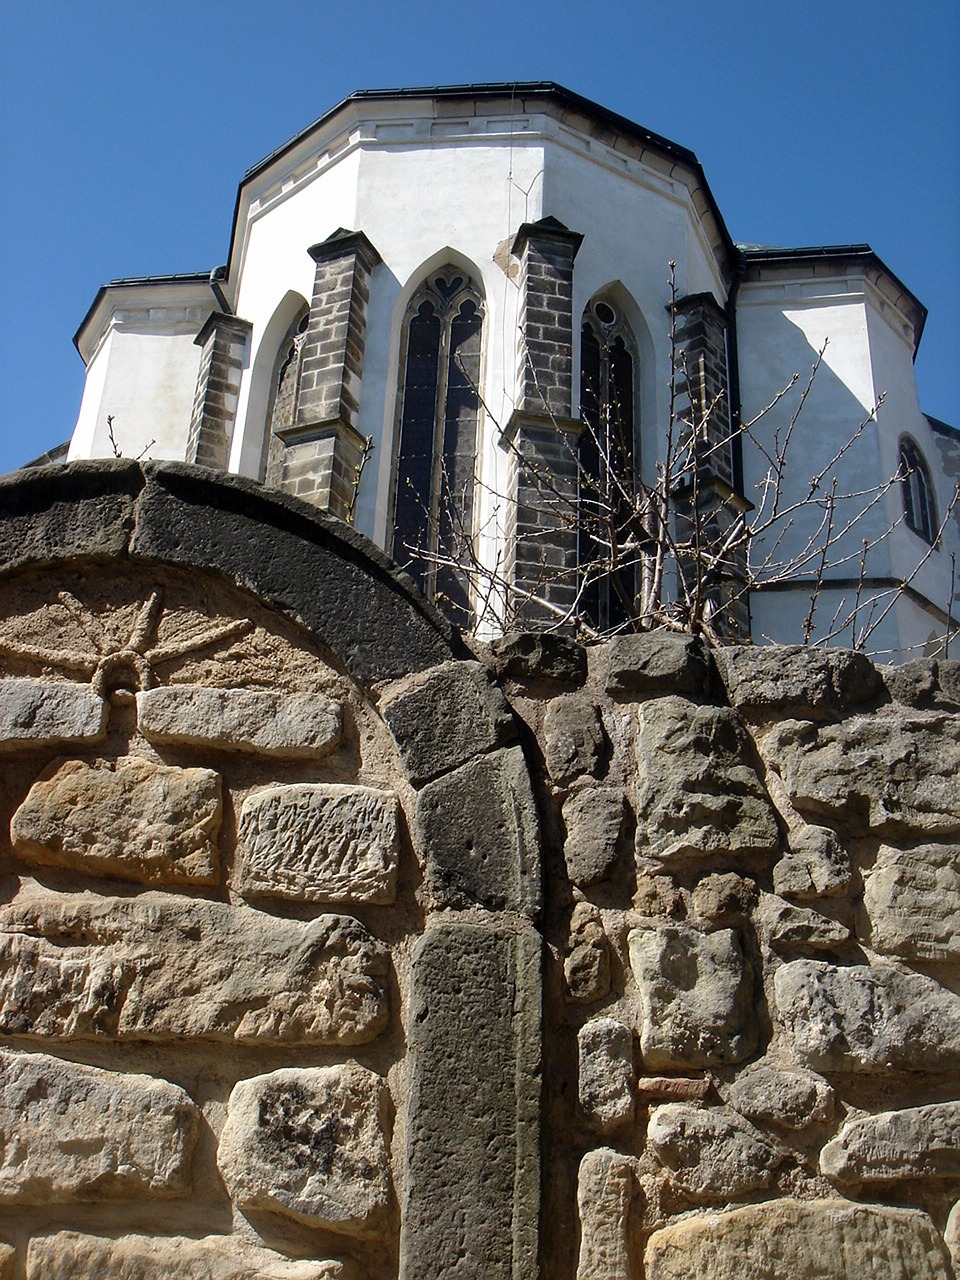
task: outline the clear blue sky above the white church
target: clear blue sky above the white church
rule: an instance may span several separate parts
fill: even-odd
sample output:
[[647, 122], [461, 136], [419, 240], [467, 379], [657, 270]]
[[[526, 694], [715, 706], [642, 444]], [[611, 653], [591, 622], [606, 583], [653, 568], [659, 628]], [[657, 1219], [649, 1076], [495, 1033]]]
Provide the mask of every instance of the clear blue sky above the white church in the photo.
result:
[[0, 0], [0, 471], [73, 430], [97, 287], [223, 262], [251, 164], [357, 88], [513, 79], [690, 147], [735, 239], [870, 243], [960, 425], [957, 0]]

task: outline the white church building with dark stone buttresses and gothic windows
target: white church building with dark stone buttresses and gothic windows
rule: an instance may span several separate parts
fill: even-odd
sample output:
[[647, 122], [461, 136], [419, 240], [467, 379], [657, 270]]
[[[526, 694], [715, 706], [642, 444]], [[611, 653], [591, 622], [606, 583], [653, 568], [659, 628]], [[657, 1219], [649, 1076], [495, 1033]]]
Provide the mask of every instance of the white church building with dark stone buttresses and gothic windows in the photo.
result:
[[960, 433], [919, 408], [924, 319], [865, 244], [736, 243], [691, 151], [561, 86], [362, 91], [243, 175], [225, 265], [100, 288], [68, 457], [259, 479], [461, 626], [600, 632], [623, 593], [567, 508], [657, 492], [692, 422], [698, 518], [783, 512], [718, 580], [728, 636], [936, 655]]

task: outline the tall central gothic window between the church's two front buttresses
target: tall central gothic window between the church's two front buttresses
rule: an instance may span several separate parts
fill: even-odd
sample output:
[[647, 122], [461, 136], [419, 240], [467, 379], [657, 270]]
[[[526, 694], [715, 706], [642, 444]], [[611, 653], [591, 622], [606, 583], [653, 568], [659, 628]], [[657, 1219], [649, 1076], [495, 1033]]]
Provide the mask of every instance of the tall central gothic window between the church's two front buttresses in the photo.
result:
[[393, 558], [460, 625], [471, 617], [454, 564], [474, 539], [483, 319], [476, 284], [448, 268], [417, 289], [403, 320]]

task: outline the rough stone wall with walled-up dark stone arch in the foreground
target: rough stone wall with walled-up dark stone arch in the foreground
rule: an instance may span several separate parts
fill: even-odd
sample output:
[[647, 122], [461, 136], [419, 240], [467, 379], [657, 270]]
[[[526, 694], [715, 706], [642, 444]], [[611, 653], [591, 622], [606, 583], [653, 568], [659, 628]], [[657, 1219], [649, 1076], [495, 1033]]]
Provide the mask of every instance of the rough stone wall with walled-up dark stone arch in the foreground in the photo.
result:
[[960, 664], [471, 652], [253, 484], [0, 488], [0, 1276], [952, 1274]]

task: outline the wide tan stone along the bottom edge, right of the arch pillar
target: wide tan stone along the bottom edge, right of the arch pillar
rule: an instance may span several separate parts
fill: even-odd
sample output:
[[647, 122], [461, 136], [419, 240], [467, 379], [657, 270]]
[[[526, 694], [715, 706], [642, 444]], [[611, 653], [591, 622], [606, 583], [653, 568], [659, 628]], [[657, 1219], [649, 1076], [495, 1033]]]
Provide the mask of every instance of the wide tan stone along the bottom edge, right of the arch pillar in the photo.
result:
[[933, 1222], [910, 1208], [765, 1201], [654, 1231], [646, 1280], [945, 1280]]

